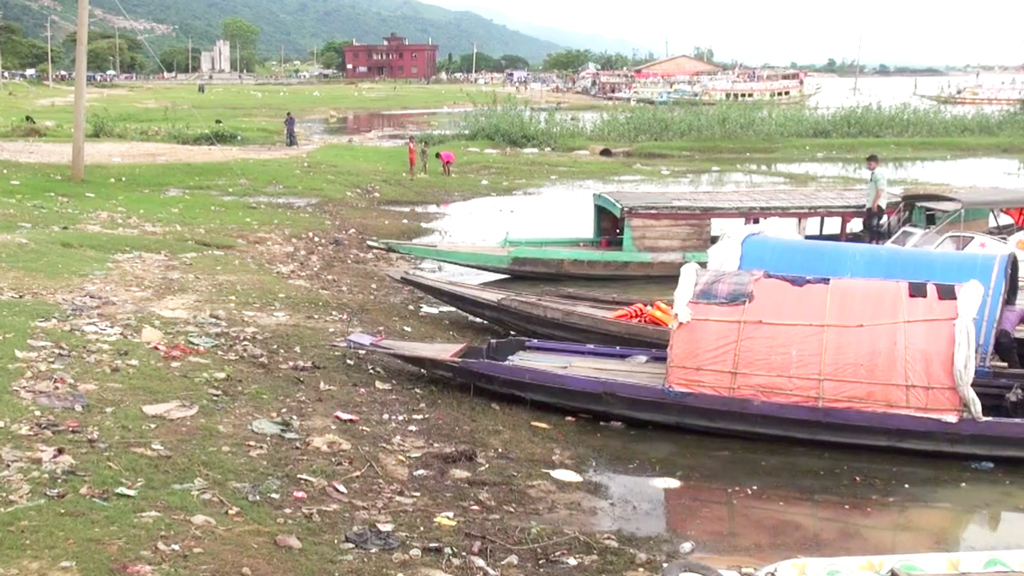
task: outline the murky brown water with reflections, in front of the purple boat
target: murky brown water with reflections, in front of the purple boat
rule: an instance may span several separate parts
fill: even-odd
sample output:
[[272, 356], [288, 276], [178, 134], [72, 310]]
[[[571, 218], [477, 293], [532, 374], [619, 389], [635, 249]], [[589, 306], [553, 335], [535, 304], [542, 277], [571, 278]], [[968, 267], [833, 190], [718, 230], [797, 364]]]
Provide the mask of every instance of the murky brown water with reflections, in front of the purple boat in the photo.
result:
[[[1019, 465], [979, 472], [949, 459], [663, 430], [590, 442], [635, 459], [612, 457], [585, 475], [602, 487], [595, 528], [693, 540], [702, 554], [767, 564], [1021, 545]], [[683, 484], [656, 488], [659, 476]]]

